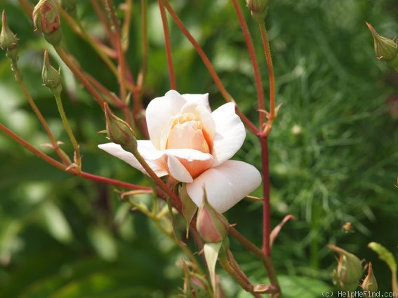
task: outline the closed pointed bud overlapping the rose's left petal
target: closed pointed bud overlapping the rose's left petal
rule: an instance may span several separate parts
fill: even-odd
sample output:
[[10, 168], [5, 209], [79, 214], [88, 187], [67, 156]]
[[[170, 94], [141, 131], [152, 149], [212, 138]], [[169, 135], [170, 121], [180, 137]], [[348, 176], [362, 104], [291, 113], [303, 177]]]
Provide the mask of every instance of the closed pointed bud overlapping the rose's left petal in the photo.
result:
[[122, 147], [127, 147], [128, 151], [137, 149], [137, 140], [131, 126], [118, 116], [112, 113], [108, 104], [104, 103], [105, 119], [107, 123], [108, 138]]

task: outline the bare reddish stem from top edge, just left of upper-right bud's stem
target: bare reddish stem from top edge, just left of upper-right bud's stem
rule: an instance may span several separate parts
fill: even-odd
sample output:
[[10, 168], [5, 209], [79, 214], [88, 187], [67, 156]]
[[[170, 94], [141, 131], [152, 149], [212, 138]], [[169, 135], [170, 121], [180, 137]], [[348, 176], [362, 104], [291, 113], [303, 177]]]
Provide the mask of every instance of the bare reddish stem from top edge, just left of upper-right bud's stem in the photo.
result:
[[263, 127], [265, 123], [265, 102], [264, 102], [264, 91], [263, 91], [263, 80], [261, 79], [260, 67], [258, 67], [256, 51], [254, 50], [253, 41], [250, 36], [250, 32], [248, 31], [248, 27], [246, 21], [244, 19], [244, 15], [241, 11], [241, 6], [238, 3], [238, 0], [232, 0], [234, 4], [235, 11], [237, 13], [239, 23], [241, 25], [242, 33], [244, 34], [244, 39], [246, 41], [246, 46], [248, 49], [248, 54], [250, 55], [251, 65], [253, 67], [254, 79], [256, 81], [256, 89], [257, 89], [257, 97], [258, 97], [258, 115], [260, 118], [260, 129]]

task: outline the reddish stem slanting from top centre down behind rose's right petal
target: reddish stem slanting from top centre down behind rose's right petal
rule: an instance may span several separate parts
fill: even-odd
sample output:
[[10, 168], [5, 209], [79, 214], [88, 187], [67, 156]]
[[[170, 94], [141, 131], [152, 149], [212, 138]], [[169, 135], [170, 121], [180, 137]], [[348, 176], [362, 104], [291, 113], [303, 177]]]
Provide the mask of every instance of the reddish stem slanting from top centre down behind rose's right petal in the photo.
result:
[[[211, 75], [213, 78], [213, 81], [215, 85], [218, 87], [218, 90], [220, 90], [220, 93], [223, 95], [225, 100], [227, 102], [235, 102], [230, 93], [225, 89], [223, 82], [221, 81], [220, 77], [218, 74], [215, 72], [215, 69], [213, 65], [211, 64], [210, 60], [208, 60], [208, 57], [204, 53], [204, 51], [201, 49], [201, 46], [199, 46], [199, 43], [194, 39], [194, 37], [188, 32], [187, 28], [184, 26], [183, 22], [178, 18], [177, 13], [173, 11], [173, 8], [171, 7], [170, 4], [168, 4], [167, 0], [160, 0], [161, 3], [164, 5], [164, 8], [170, 13], [171, 18], [173, 18], [175, 24], [180, 28], [181, 32], [187, 37], [187, 39], [192, 43], [192, 46], [194, 49], [197, 51], [198, 55], [201, 57], [201, 60], [204, 62], [204, 65], [208, 69], [208, 73]], [[243, 114], [243, 112], [235, 105], [235, 111], [239, 115], [239, 117], [244, 121], [246, 124], [246, 127], [248, 130], [250, 130], [251, 133], [254, 135], [258, 135], [259, 130], [256, 128], [256, 126]]]

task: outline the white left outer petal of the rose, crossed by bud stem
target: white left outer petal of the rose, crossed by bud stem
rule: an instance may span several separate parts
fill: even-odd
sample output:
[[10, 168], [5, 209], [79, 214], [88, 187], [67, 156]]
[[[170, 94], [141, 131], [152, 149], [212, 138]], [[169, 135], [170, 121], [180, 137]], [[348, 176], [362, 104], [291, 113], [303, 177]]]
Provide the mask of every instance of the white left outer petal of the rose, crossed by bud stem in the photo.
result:
[[[158, 151], [154, 148], [151, 141], [137, 141], [138, 142], [138, 151], [145, 158], [148, 165], [154, 170], [156, 175], [159, 177], [168, 175], [167, 171], [167, 163], [166, 163], [166, 155], [164, 152]], [[100, 144], [98, 147], [107, 153], [120, 158], [122, 161], [125, 161], [132, 167], [140, 170], [144, 174], [147, 175], [147, 172], [142, 168], [142, 165], [137, 161], [134, 155], [131, 152], [125, 151], [119, 144], [107, 143]]]

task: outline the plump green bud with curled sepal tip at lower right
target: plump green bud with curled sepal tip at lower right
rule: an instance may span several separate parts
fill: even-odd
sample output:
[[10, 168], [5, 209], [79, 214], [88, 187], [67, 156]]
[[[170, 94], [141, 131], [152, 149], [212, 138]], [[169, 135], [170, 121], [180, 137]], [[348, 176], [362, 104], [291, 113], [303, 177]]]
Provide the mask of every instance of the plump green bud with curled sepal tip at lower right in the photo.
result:
[[357, 289], [364, 272], [361, 261], [357, 256], [342, 248], [334, 245], [328, 245], [328, 247], [339, 254], [337, 271], [333, 270], [333, 284], [337, 285], [340, 290], [354, 291]]

